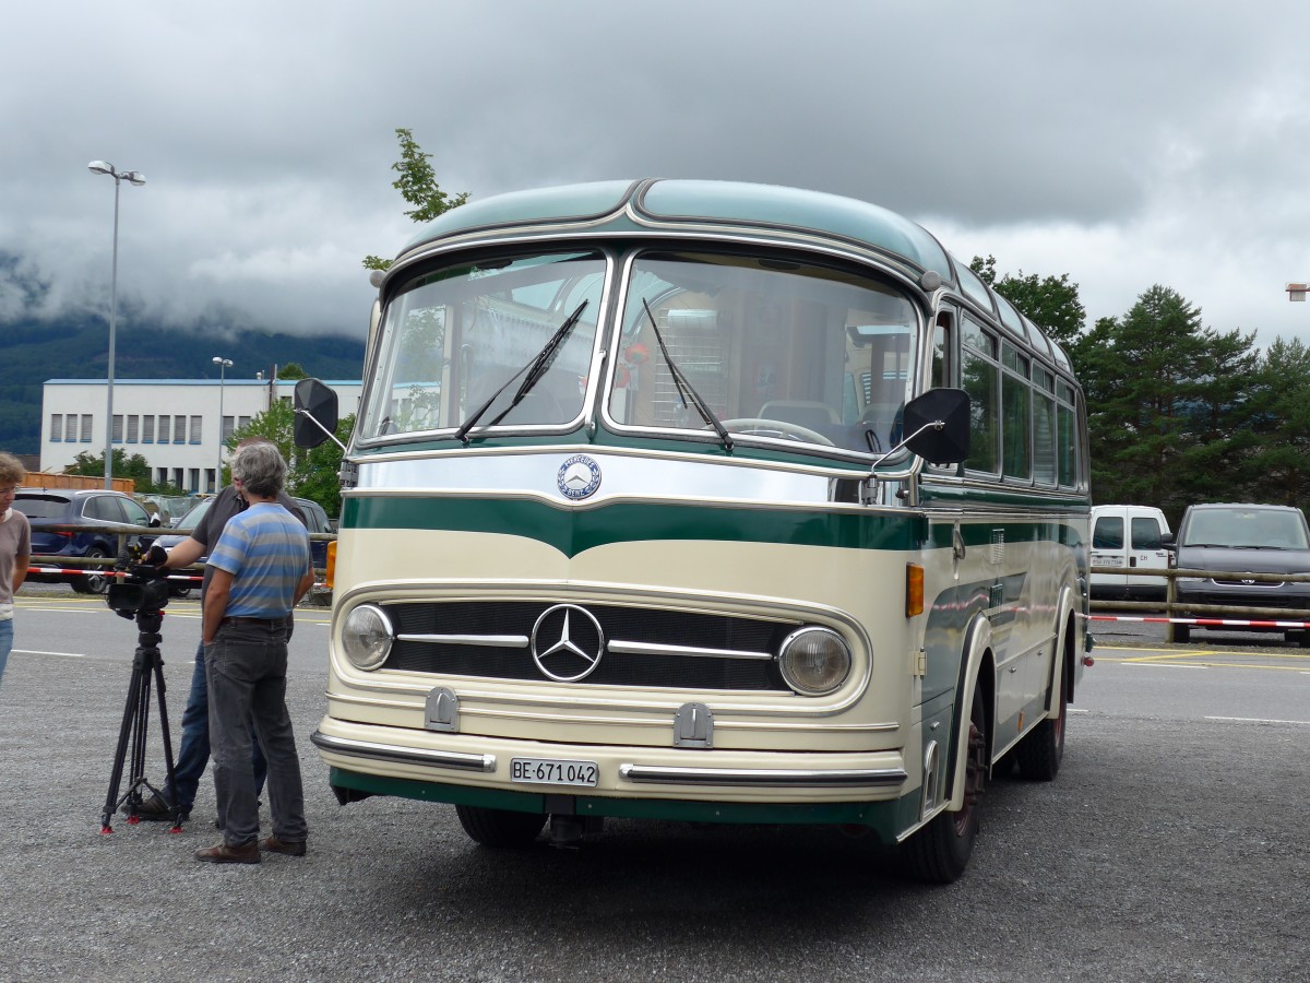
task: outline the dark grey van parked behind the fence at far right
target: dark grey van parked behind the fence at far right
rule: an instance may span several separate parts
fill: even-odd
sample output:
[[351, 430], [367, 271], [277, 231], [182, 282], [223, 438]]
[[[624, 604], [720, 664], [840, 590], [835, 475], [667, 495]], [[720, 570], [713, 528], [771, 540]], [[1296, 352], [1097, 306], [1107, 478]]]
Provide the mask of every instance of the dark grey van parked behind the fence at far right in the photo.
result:
[[[1265, 583], [1242, 577], [1243, 573], [1310, 573], [1310, 526], [1300, 509], [1281, 505], [1188, 506], [1178, 527], [1174, 550], [1180, 569], [1218, 574], [1179, 578], [1180, 604], [1286, 608], [1292, 617], [1285, 620], [1310, 620], [1310, 583]], [[1229, 628], [1225, 626], [1225, 630]], [[1174, 626], [1176, 641], [1187, 641], [1189, 636], [1191, 625]], [[1286, 638], [1310, 646], [1310, 634], [1300, 629], [1289, 629]]]

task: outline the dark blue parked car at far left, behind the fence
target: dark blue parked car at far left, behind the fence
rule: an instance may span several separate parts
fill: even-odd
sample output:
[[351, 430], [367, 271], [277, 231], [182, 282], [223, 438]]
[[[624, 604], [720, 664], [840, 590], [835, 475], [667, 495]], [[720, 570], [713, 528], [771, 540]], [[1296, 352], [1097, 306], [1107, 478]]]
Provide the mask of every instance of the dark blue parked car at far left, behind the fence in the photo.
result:
[[[117, 557], [118, 533], [110, 532], [107, 527], [159, 524], [159, 519], [152, 518], [135, 498], [106, 489], [21, 488], [13, 498], [13, 507], [26, 515], [31, 526], [33, 556], [88, 560]], [[106, 528], [63, 532], [50, 528], [52, 526]], [[145, 548], [153, 540], [153, 536], [132, 536], [128, 545]], [[103, 594], [111, 581], [105, 573], [30, 573], [28, 579], [37, 583], [71, 583], [79, 594]]]

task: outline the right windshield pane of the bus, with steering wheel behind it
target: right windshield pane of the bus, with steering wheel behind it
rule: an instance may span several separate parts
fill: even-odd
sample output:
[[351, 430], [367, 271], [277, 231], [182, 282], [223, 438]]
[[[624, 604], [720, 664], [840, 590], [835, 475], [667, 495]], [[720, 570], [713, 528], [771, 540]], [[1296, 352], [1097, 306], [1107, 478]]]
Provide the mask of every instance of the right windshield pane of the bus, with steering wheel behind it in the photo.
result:
[[713, 431], [681, 375], [734, 438], [882, 453], [900, 439], [917, 325], [904, 295], [838, 269], [642, 253], [626, 282], [609, 419]]

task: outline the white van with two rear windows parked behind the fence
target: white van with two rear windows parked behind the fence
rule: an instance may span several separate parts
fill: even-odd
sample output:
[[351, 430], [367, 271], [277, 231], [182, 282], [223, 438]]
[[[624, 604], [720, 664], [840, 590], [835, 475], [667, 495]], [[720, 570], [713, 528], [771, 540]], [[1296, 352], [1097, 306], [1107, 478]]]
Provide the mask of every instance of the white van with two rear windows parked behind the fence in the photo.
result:
[[1166, 543], [1174, 535], [1159, 509], [1145, 505], [1098, 505], [1091, 510], [1091, 596], [1107, 600], [1163, 600], [1165, 577], [1096, 573], [1096, 568], [1167, 570]]

